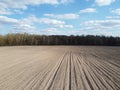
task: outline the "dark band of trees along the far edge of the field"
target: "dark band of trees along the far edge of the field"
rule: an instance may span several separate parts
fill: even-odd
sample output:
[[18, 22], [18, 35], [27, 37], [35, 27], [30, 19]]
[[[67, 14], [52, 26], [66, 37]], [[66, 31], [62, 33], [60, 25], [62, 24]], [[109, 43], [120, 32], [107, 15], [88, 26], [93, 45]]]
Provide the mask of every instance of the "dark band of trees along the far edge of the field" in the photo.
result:
[[22, 45], [103, 45], [120, 46], [120, 37], [112, 36], [65, 36], [65, 35], [31, 35], [7, 34], [0, 35], [0, 46]]

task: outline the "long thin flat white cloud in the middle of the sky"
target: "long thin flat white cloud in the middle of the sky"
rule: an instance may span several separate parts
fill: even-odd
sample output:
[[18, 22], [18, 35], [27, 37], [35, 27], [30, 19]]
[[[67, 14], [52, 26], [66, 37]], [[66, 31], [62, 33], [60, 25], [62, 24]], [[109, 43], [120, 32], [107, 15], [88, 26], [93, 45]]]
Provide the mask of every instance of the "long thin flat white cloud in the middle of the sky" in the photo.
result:
[[77, 19], [79, 17], [78, 14], [44, 14], [44, 16], [57, 18], [57, 19]]

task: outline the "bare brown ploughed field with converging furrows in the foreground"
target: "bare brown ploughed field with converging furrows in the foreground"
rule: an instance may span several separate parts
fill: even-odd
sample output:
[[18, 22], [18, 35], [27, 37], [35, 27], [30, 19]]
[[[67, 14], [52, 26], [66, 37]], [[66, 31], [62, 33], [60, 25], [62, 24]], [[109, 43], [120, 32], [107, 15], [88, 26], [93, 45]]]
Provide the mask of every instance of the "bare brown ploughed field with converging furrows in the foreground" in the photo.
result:
[[0, 90], [120, 90], [120, 47], [0, 47]]

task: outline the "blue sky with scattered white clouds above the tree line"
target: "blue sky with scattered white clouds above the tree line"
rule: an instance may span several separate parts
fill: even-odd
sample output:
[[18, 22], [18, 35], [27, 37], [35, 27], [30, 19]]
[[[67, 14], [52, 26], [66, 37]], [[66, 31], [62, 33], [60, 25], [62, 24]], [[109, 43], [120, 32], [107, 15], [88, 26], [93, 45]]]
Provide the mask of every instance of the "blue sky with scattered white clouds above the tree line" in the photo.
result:
[[0, 34], [120, 36], [120, 0], [0, 0]]

